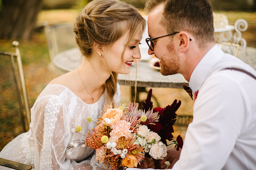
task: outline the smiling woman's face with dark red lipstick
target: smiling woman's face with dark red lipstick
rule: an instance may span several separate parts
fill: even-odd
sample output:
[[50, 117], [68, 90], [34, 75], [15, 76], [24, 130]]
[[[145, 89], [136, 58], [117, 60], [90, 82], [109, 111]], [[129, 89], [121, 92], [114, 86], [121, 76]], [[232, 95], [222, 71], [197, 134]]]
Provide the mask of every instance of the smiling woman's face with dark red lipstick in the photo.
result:
[[[110, 48], [105, 47], [104, 59], [107, 67], [119, 74], [129, 74], [131, 71], [132, 62], [135, 59], [140, 59], [140, 48], [139, 43], [142, 39], [142, 31], [138, 30], [135, 33], [132, 41], [129, 42], [128, 47], [124, 50], [128, 43], [129, 32], [124, 34], [118, 39]], [[124, 51], [124, 57], [122, 59], [122, 53]]]

